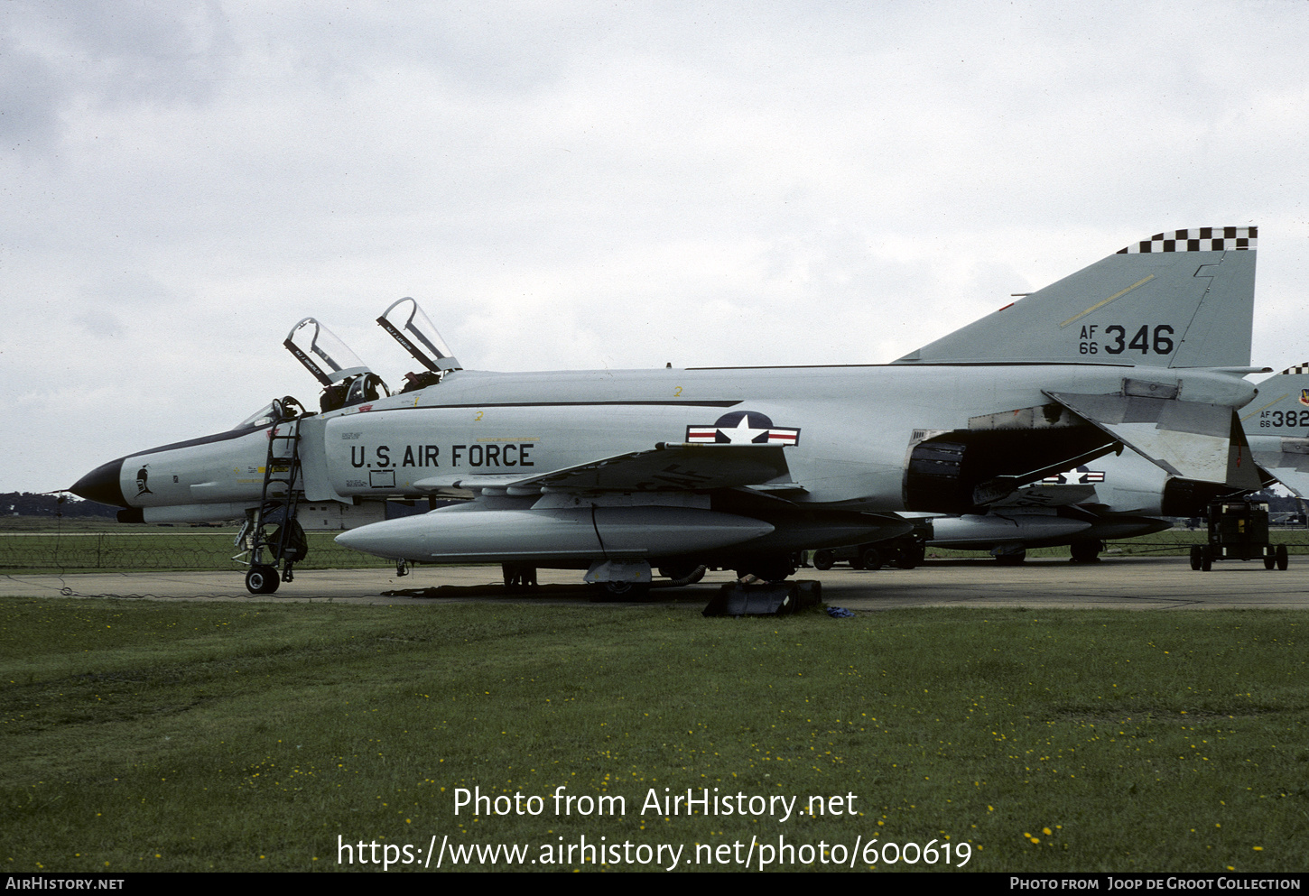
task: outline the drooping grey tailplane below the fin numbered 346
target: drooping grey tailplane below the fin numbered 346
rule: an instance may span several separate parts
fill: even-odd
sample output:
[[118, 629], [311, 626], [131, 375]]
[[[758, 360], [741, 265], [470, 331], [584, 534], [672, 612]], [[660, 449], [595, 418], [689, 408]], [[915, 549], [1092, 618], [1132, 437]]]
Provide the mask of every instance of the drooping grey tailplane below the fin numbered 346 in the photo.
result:
[[1046, 392], [1069, 411], [1182, 479], [1258, 489], [1261, 477], [1236, 411], [1175, 395]]

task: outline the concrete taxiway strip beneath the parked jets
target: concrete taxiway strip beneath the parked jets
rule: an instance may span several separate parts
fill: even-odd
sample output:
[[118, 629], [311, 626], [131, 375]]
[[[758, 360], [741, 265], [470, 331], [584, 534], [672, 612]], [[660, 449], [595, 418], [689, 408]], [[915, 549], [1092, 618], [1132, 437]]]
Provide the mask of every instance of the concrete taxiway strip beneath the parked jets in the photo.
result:
[[[398, 577], [387, 569], [297, 570], [274, 595], [251, 595], [240, 572], [132, 572], [79, 576], [5, 576], [0, 594], [191, 600], [331, 600], [344, 603], [442, 603], [531, 600], [589, 603], [579, 570], [539, 573], [539, 587], [509, 593], [499, 566], [419, 566]], [[916, 569], [826, 572], [801, 569], [795, 578], [822, 582], [823, 600], [856, 611], [902, 607], [1068, 607], [1126, 610], [1221, 610], [1309, 607], [1309, 557], [1292, 556], [1285, 572], [1259, 561], [1225, 561], [1194, 572], [1185, 557], [1110, 557], [1096, 564], [1029, 560], [1001, 566], [992, 560], [929, 560]], [[711, 572], [695, 586], [656, 587], [636, 603], [702, 607], [729, 572]]]

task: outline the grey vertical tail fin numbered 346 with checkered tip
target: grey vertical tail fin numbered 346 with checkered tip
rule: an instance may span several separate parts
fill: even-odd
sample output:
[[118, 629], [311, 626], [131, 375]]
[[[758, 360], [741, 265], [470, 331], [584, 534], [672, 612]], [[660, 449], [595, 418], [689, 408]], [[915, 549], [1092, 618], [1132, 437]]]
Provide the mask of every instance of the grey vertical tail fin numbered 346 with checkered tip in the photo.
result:
[[1192, 228], [1126, 246], [897, 364], [1250, 365], [1258, 228]]

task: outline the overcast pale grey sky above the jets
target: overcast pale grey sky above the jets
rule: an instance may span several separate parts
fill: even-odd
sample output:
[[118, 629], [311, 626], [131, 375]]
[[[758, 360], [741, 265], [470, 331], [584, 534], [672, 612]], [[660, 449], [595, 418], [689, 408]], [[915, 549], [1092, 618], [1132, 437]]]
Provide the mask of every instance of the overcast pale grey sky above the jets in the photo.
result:
[[391, 382], [893, 360], [1165, 229], [1257, 224], [1309, 360], [1309, 4], [0, 0], [0, 492]]

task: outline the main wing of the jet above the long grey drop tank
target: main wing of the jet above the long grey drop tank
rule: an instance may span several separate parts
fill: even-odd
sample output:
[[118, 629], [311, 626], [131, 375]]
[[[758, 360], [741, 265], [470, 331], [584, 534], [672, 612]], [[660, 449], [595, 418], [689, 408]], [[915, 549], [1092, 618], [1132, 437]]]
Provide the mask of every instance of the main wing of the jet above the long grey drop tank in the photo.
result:
[[543, 488], [583, 492], [699, 492], [744, 485], [775, 487], [791, 481], [791, 471], [781, 451], [781, 445], [660, 442], [652, 450], [630, 451], [546, 474], [458, 474], [424, 479], [415, 483], [415, 487], [433, 492], [505, 488], [511, 494], [526, 494]]

